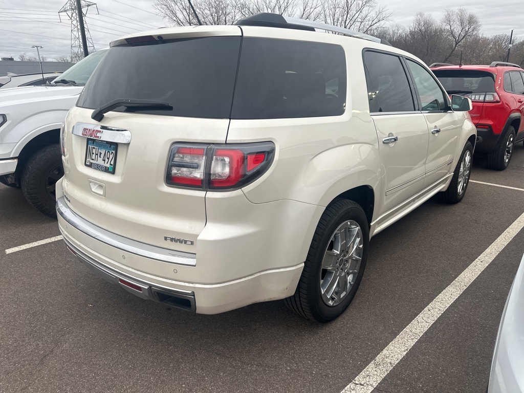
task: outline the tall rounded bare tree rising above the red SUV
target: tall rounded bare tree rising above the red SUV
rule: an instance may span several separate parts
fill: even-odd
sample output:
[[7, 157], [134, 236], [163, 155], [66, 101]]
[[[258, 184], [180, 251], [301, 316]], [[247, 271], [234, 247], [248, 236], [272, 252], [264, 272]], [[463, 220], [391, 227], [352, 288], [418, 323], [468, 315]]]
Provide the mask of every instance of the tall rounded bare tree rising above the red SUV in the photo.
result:
[[451, 48], [444, 58], [448, 61], [456, 49], [468, 38], [477, 35], [481, 29], [481, 23], [478, 18], [468, 13], [465, 8], [446, 9], [442, 24], [446, 29], [446, 34], [451, 38]]

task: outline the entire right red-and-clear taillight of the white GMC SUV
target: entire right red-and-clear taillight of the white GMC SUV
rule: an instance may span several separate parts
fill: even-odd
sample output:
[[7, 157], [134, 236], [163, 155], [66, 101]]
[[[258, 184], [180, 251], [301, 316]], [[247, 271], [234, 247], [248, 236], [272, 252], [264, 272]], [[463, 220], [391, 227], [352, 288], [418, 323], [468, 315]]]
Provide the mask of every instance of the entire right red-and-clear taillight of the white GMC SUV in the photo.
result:
[[254, 181], [271, 165], [271, 142], [232, 145], [177, 143], [171, 146], [166, 183], [204, 190], [231, 190]]

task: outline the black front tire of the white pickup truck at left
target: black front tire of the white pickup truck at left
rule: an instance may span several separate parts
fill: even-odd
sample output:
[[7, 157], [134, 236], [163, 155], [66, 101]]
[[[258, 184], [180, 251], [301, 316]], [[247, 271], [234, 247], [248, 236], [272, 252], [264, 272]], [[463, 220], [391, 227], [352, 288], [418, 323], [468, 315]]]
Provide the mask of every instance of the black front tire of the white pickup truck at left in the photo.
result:
[[42, 147], [29, 158], [21, 188], [27, 201], [41, 213], [56, 217], [55, 184], [63, 176], [60, 145]]

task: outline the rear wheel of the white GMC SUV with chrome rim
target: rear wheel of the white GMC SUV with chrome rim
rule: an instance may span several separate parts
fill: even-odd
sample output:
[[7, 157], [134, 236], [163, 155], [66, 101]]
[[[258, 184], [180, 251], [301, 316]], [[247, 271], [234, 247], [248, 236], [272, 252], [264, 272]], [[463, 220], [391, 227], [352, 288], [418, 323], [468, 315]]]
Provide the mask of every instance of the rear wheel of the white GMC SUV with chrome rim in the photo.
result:
[[313, 235], [292, 311], [315, 322], [329, 322], [350, 305], [362, 281], [369, 248], [369, 226], [361, 206], [345, 199], [326, 208]]

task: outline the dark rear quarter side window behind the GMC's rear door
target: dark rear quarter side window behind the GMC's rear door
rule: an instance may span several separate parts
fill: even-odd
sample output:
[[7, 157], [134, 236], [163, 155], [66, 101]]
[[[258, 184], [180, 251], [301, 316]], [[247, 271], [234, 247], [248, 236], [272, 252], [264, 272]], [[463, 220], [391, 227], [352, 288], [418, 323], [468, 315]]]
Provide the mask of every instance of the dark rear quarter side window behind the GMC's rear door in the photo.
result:
[[345, 102], [341, 46], [244, 38], [231, 118], [335, 116]]

